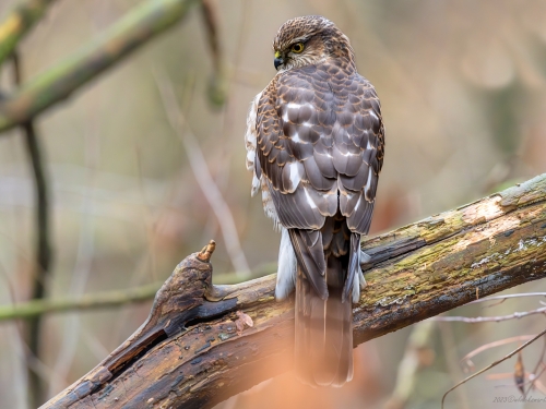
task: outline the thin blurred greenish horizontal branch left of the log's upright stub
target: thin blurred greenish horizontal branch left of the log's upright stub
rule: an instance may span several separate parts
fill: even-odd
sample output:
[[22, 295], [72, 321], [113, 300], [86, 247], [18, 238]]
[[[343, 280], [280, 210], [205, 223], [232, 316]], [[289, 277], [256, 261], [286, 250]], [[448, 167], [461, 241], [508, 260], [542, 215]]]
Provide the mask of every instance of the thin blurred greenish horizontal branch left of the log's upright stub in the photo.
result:
[[0, 322], [31, 318], [54, 312], [95, 310], [152, 300], [161, 282], [141, 287], [83, 294], [78, 299], [32, 300], [25, 303], [0, 306]]

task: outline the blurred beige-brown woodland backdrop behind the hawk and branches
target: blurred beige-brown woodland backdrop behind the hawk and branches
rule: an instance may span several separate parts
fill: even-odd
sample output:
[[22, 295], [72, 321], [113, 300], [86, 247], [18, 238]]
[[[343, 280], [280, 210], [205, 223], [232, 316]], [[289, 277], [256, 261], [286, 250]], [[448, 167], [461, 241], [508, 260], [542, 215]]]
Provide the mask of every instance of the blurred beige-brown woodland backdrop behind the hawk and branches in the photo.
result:
[[[16, 3], [1, 1], [1, 19]], [[55, 2], [19, 47], [23, 79], [76, 51], [139, 3]], [[387, 149], [371, 234], [546, 171], [543, 1], [213, 0], [210, 5], [219, 37], [216, 57], [203, 13], [193, 8], [182, 22], [35, 121], [51, 201], [47, 297], [163, 281], [210, 239], [218, 244], [216, 282], [275, 270], [280, 236], [261, 200], [250, 197], [244, 131], [250, 100], [275, 74], [271, 44], [276, 29], [294, 16], [332, 20], [351, 38], [359, 72], [381, 98]], [[0, 84], [13, 89], [11, 70], [3, 69]], [[181, 135], [171, 127], [173, 115], [169, 122], [165, 89], [183, 111]], [[211, 183], [206, 175], [222, 197], [216, 208], [203, 194], [202, 187]], [[0, 305], [32, 297], [33, 189], [21, 130], [1, 134]], [[546, 284], [512, 292], [530, 290], [544, 291]], [[31, 361], [47, 385], [46, 397], [120, 345], [150, 306], [151, 301], [45, 315], [39, 356]], [[451, 314], [505, 315], [538, 306], [537, 299], [526, 298]], [[463, 357], [520, 337], [473, 358], [477, 369], [485, 366], [522, 344], [522, 335], [542, 330], [544, 318], [440, 324], [407, 327], [359, 346], [355, 378], [342, 389], [295, 387], [292, 374], [284, 374], [217, 408], [438, 408], [443, 393], [464, 376]], [[411, 341], [412, 332], [419, 342]], [[542, 348], [536, 342], [524, 350], [527, 372], [543, 369], [537, 364]], [[419, 370], [402, 399], [393, 390], [400, 387], [406, 350], [415, 352]], [[24, 321], [0, 322], [1, 408], [28, 407], [27, 356]], [[515, 362], [514, 357], [462, 386], [447, 407], [497, 408], [495, 397], [521, 396], [513, 381]], [[531, 395], [544, 397], [546, 388], [539, 382], [536, 387]]]

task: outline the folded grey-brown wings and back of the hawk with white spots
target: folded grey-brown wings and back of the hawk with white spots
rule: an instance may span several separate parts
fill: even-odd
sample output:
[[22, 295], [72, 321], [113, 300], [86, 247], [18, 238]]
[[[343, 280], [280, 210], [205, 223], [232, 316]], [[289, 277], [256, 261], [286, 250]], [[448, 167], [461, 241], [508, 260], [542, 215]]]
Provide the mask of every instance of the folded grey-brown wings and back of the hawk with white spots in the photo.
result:
[[[369, 230], [383, 157], [379, 99], [367, 80], [324, 63], [278, 74], [257, 97], [256, 164], [288, 229], [319, 230], [337, 209], [351, 231]], [[259, 173], [257, 171], [257, 173]], [[299, 239], [298, 239], [299, 240]], [[324, 256], [307, 265], [313, 287]], [[296, 254], [298, 254], [296, 250]]]

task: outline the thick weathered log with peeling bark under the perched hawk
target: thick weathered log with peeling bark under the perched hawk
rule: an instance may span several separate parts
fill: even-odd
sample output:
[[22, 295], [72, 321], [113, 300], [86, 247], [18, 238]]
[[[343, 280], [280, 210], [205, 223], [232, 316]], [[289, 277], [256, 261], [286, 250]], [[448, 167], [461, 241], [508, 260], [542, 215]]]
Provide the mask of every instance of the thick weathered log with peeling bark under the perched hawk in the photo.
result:
[[[363, 242], [355, 345], [546, 276], [546, 175]], [[293, 303], [275, 275], [212, 286], [213, 244], [182, 261], [147, 321], [43, 408], [211, 408], [290, 369]], [[237, 333], [237, 312], [253, 320]]]

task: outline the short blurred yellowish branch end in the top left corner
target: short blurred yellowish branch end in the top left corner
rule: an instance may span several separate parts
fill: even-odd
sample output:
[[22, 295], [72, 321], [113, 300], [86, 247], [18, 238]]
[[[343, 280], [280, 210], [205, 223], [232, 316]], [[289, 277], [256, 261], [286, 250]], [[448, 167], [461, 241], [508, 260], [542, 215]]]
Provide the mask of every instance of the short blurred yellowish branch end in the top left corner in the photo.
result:
[[55, 0], [25, 0], [15, 5], [0, 23], [0, 64], [15, 50], [19, 41], [44, 16]]

